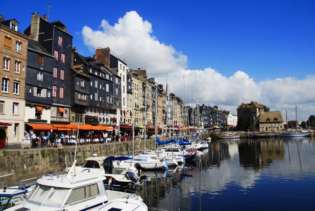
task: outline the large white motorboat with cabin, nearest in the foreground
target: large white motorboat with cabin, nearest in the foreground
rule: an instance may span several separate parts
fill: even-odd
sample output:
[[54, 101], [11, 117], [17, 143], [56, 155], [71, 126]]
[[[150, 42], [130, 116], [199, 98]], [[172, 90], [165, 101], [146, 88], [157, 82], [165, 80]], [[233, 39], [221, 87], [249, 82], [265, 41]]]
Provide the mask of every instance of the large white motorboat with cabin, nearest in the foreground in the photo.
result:
[[103, 183], [106, 179], [104, 176], [86, 172], [75, 173], [74, 165], [67, 174], [49, 174], [38, 179], [26, 199], [7, 211], [96, 211], [107, 202], [120, 198], [129, 198], [129, 202], [135, 200], [145, 206], [142, 198], [135, 193], [106, 190]]

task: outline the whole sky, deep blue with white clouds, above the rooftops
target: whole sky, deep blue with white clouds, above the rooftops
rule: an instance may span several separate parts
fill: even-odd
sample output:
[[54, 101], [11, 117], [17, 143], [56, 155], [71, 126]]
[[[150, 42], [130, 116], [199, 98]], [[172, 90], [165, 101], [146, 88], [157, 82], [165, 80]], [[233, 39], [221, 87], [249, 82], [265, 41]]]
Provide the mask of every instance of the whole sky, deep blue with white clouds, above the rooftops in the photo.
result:
[[315, 115], [315, 1], [21, 1], [15, 9], [0, 14], [21, 31], [32, 12], [49, 15], [83, 56], [110, 47], [187, 104], [198, 95], [237, 114], [254, 100], [294, 120], [297, 101], [299, 121]]

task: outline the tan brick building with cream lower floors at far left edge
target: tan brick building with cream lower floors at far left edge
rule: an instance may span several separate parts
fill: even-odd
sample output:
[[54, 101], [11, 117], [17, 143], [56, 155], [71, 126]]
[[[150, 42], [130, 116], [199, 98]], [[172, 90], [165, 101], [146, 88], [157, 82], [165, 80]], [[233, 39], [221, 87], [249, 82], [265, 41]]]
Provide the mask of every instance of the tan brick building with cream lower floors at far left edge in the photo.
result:
[[0, 15], [0, 121], [7, 126], [8, 142], [20, 142], [24, 133], [25, 73], [28, 36], [19, 30], [15, 19]]

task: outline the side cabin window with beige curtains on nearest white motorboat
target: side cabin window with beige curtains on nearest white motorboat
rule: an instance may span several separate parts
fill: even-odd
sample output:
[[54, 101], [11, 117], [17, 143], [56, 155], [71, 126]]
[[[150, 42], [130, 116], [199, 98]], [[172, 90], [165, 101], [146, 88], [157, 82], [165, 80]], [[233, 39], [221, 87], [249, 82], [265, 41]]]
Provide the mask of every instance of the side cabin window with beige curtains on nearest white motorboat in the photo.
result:
[[92, 196], [99, 195], [100, 191], [97, 184], [87, 185], [84, 187], [73, 189], [65, 204], [77, 202]]

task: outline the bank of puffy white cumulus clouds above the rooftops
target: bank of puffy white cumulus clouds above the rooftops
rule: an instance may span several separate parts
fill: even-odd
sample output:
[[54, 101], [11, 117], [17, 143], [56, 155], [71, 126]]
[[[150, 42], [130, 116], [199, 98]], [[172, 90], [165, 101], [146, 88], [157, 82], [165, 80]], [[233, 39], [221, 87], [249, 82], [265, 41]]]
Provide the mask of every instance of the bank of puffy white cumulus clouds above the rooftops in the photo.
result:
[[284, 120], [285, 109], [288, 109], [290, 119], [294, 120], [297, 101], [299, 121], [315, 114], [314, 74], [303, 80], [288, 77], [255, 82], [241, 70], [232, 76], [224, 76], [220, 70], [210, 68], [211, 64], [203, 70], [189, 70], [188, 57], [171, 45], [158, 41], [153, 35], [152, 24], [135, 11], [127, 12], [114, 26], [106, 20], [101, 21], [98, 29], [84, 26], [82, 35], [91, 52], [98, 47], [109, 47], [111, 54], [125, 59], [129, 68], [146, 69], [149, 77], [154, 77], [164, 87], [167, 83], [170, 92], [176, 93], [189, 105], [195, 105], [198, 98], [199, 104], [217, 105], [220, 110], [237, 114], [236, 108], [241, 103], [254, 100], [268, 106], [271, 111], [281, 110]]

